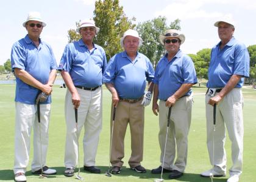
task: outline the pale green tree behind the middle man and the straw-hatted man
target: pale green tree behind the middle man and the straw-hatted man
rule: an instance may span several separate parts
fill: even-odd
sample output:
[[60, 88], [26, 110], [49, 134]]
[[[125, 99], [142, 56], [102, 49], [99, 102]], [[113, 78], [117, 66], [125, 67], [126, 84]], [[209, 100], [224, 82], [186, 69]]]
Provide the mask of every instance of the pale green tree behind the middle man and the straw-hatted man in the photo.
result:
[[140, 52], [151, 60], [154, 67], [165, 53], [165, 48], [159, 42], [159, 36], [167, 29], [180, 30], [180, 20], [176, 19], [168, 26], [166, 25], [165, 16], [158, 16], [152, 20], [139, 23], [136, 27], [136, 30], [143, 39]]

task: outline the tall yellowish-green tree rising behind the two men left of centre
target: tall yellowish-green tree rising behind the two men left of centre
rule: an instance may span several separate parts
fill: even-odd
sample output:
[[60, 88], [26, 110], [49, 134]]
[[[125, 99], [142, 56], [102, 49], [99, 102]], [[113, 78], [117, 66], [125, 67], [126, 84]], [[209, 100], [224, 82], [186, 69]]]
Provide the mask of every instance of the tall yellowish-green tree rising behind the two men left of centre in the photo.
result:
[[120, 45], [121, 37], [126, 30], [135, 27], [135, 24], [132, 23], [135, 18], [127, 18], [123, 6], [119, 5], [119, 0], [96, 1], [94, 21], [101, 29], [95, 42], [104, 48], [107, 59], [123, 50]]

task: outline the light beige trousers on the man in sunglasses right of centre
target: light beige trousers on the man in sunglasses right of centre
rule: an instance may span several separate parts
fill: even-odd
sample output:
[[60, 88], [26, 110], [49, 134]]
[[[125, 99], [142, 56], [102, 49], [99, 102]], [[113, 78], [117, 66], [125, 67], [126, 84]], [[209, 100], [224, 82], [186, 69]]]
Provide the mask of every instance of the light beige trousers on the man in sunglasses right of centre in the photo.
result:
[[[163, 168], [184, 172], [188, 155], [188, 132], [191, 123], [192, 96], [184, 96], [176, 101], [171, 108], [171, 121], [169, 124], [168, 138], [166, 141], [165, 162], [163, 153], [165, 150], [166, 128], [169, 107], [165, 101], [159, 101], [159, 128], [158, 140], [161, 149], [160, 162]], [[174, 162], [177, 149], [177, 158]]]

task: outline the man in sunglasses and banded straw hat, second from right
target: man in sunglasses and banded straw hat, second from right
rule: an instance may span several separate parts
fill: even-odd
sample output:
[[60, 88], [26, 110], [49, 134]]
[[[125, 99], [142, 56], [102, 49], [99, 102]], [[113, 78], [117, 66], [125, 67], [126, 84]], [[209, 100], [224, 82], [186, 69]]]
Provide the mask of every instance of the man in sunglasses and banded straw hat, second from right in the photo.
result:
[[[185, 36], [177, 30], [166, 30], [160, 35], [166, 55], [160, 59], [155, 70], [154, 97], [152, 110], [155, 115], [159, 112], [158, 140], [160, 143], [162, 163], [152, 174], [170, 172], [169, 178], [179, 178], [183, 175], [187, 164], [188, 132], [191, 123], [191, 107], [193, 94], [191, 87], [197, 83], [194, 64], [188, 55], [180, 50]], [[157, 104], [158, 99], [159, 105]], [[168, 110], [171, 107], [169, 133], [166, 135]], [[167, 141], [166, 141], [166, 137]], [[164, 150], [166, 141], [165, 161]], [[177, 158], [176, 156], [177, 147]]]

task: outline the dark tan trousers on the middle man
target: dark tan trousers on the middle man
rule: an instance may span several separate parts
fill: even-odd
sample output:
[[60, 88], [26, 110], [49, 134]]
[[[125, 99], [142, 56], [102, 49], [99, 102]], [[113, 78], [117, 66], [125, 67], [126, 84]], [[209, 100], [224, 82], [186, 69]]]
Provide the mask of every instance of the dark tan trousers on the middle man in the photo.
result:
[[[116, 107], [115, 123], [113, 127], [112, 153], [110, 159], [112, 166], [123, 166], [124, 136], [126, 135], [128, 123], [130, 126], [132, 148], [132, 154], [128, 161], [129, 166], [132, 168], [139, 166], [140, 162], [143, 160], [144, 106], [141, 106], [142, 100], [143, 99], [136, 103], [119, 101], [118, 106]], [[111, 129], [112, 124], [110, 130]]]

